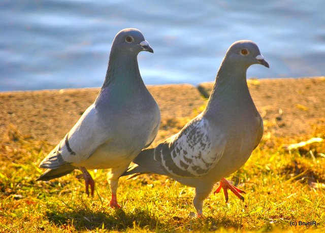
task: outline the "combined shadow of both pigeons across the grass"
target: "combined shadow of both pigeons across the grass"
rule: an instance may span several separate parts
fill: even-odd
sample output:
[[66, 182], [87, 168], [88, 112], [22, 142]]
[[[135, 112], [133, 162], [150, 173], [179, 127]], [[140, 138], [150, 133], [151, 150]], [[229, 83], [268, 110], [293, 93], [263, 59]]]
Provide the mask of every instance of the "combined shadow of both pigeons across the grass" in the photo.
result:
[[174, 216], [168, 225], [160, 222], [154, 214], [141, 209], [125, 212], [122, 209], [94, 212], [78, 210], [68, 212], [47, 212], [47, 218], [57, 227], [67, 228], [69, 225], [76, 230], [107, 229], [125, 231], [129, 228], [141, 228], [150, 231], [203, 230], [211, 231], [220, 228], [240, 229], [242, 225], [225, 217], [190, 218]]

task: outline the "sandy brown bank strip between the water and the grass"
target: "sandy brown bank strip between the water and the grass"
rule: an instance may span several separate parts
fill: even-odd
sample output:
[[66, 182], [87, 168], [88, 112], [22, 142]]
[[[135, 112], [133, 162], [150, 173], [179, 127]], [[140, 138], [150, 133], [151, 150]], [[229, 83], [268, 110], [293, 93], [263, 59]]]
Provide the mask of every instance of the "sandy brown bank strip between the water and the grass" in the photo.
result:
[[[248, 80], [266, 133], [313, 136], [325, 127], [325, 77]], [[162, 121], [191, 118], [206, 103], [213, 83], [148, 86]], [[200, 91], [201, 92], [200, 92]], [[94, 101], [99, 88], [0, 93], [0, 134], [14, 125], [23, 135], [56, 144]], [[164, 125], [163, 125], [164, 126]], [[161, 140], [157, 138], [157, 140]]]

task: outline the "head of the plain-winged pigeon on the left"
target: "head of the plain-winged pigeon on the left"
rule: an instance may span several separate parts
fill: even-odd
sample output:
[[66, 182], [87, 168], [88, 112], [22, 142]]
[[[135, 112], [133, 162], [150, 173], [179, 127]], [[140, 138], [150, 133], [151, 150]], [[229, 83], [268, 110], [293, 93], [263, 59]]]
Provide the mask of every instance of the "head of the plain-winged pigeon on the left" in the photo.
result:
[[138, 55], [141, 51], [153, 53], [153, 49], [144, 39], [140, 30], [136, 28], [125, 28], [120, 30], [114, 38], [112, 51], [117, 53], [128, 53]]

